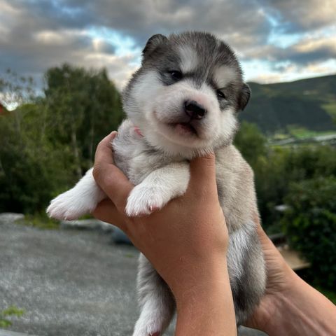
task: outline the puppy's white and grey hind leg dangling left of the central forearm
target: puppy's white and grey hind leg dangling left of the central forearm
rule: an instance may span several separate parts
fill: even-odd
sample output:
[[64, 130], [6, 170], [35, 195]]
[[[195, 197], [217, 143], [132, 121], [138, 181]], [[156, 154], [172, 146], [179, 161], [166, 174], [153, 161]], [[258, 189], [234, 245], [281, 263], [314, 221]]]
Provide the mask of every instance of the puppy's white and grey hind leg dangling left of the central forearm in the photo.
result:
[[141, 314], [133, 336], [162, 335], [172, 320], [175, 302], [165, 281], [140, 254], [137, 279]]

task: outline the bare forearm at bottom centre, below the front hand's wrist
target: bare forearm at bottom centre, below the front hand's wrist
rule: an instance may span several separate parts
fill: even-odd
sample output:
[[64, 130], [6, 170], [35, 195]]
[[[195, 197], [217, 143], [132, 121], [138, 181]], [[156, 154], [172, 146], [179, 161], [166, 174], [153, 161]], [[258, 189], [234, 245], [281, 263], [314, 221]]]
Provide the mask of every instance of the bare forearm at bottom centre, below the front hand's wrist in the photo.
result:
[[175, 336], [237, 335], [235, 308], [226, 261], [206, 281], [188, 286], [176, 297]]

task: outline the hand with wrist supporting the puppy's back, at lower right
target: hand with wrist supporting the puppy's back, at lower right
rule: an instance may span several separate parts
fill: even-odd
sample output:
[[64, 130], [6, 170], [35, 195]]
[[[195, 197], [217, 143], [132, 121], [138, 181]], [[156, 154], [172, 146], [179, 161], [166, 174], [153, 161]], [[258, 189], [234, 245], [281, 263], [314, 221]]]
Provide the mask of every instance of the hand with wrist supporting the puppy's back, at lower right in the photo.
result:
[[265, 296], [246, 325], [272, 336], [335, 335], [336, 307], [290, 269], [272, 241], [262, 230], [258, 236], [265, 256]]

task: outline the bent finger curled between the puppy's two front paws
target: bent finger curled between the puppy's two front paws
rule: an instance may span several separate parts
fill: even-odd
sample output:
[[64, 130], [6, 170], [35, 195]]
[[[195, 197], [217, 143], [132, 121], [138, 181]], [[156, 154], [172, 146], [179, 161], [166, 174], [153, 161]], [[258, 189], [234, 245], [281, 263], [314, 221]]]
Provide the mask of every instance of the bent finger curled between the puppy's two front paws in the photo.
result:
[[122, 214], [125, 211], [127, 197], [134, 187], [125, 174], [113, 165], [113, 153], [111, 141], [117, 132], [112, 132], [105, 137], [97, 146], [94, 159], [93, 177], [104, 193], [116, 205]]

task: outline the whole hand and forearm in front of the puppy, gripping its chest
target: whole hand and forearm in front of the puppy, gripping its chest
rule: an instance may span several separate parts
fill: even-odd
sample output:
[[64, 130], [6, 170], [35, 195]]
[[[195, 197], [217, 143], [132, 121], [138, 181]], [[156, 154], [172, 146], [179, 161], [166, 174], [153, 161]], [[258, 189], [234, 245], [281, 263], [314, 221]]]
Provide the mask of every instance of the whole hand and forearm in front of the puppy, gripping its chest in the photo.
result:
[[108, 199], [94, 216], [118, 225], [146, 255], [176, 300], [177, 336], [237, 335], [228, 276], [228, 229], [218, 201], [214, 154], [190, 162], [186, 194], [150, 216], [125, 216], [134, 186], [113, 165], [113, 132], [99, 144], [94, 179]]

